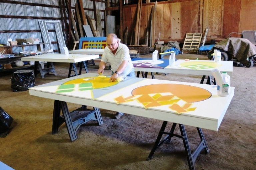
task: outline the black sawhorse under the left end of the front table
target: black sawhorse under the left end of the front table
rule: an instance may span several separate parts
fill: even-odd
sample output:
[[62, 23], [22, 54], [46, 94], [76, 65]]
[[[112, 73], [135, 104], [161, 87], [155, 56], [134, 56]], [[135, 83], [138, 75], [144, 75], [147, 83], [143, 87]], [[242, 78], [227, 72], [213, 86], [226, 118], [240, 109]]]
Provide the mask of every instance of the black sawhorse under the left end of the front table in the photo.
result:
[[[60, 111], [62, 111], [62, 116]], [[93, 110], [89, 110], [83, 105], [81, 108], [69, 112], [66, 102], [54, 101], [52, 134], [57, 133], [59, 127], [65, 122], [72, 142], [77, 139], [76, 131], [78, 128], [91, 120], [97, 121], [99, 126], [103, 124], [99, 108], [94, 107]]]

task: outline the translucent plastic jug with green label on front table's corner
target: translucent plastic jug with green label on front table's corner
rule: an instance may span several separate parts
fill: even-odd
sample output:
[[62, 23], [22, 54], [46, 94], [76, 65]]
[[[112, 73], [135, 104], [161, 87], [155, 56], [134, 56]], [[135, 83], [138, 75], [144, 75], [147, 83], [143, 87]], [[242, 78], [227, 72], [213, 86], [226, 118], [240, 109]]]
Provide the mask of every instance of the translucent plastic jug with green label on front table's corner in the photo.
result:
[[229, 89], [230, 89], [230, 76], [226, 72], [223, 72], [221, 74], [221, 78], [222, 78], [222, 84], [218, 84], [217, 94], [219, 96], [228, 96]]

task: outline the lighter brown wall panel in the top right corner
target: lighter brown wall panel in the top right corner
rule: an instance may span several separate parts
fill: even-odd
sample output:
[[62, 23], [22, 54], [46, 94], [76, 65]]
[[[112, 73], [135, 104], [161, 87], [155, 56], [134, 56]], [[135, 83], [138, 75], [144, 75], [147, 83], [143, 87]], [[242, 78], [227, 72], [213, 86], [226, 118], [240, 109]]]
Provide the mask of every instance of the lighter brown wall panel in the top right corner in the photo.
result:
[[241, 14], [240, 14], [240, 22], [239, 22], [240, 33], [244, 30], [256, 30], [255, 11], [256, 11], [255, 0], [241, 1]]

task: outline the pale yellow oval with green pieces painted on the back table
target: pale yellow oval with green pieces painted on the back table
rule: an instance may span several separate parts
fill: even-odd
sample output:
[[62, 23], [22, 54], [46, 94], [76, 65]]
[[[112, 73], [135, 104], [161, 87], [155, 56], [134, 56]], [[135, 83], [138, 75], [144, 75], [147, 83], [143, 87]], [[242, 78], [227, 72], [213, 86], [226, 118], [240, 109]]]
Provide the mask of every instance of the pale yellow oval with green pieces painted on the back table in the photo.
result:
[[187, 67], [193, 70], [208, 69], [208, 68], [219, 68], [222, 66], [219, 62], [200, 62], [200, 61], [186, 61], [180, 63], [182, 67]]

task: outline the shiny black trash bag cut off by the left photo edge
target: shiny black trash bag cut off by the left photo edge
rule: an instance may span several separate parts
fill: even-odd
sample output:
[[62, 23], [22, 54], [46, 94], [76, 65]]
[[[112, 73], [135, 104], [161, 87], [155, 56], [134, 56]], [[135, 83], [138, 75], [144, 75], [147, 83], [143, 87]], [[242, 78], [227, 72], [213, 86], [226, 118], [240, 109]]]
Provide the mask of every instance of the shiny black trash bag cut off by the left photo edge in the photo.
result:
[[0, 137], [5, 137], [10, 132], [13, 118], [0, 107]]

